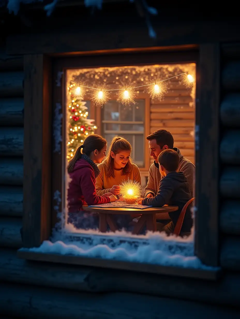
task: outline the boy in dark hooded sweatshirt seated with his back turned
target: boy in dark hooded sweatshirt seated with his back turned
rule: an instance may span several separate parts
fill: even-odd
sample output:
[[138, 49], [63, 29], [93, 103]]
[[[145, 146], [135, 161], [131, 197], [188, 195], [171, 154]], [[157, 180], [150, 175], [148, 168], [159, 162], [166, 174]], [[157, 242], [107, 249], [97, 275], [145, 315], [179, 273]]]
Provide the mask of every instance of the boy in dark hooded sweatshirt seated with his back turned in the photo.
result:
[[[171, 222], [161, 230], [167, 234], [174, 232], [178, 217], [183, 206], [192, 198], [189, 190], [189, 183], [183, 172], [177, 172], [179, 165], [179, 155], [172, 149], [166, 149], [158, 156], [159, 171], [163, 178], [160, 180], [159, 189], [155, 197], [140, 198], [138, 204], [162, 207], [165, 204], [178, 206], [177, 211], [169, 212]], [[193, 226], [190, 205], [188, 206], [180, 236], [190, 235]]]

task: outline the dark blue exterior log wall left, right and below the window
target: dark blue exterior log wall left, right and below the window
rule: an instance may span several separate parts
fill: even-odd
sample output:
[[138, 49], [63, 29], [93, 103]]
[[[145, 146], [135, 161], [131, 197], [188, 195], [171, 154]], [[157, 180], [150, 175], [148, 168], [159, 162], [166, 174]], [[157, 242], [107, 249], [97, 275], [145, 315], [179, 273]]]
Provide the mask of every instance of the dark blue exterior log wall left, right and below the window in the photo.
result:
[[[236, 56], [234, 45], [230, 47], [228, 45], [227, 49], [226, 46], [222, 47], [222, 56], [224, 58], [222, 88], [224, 89], [224, 94], [222, 95], [220, 109], [221, 129], [223, 132], [220, 146], [220, 158], [222, 161], [220, 191], [223, 198], [220, 206], [220, 231], [222, 234], [220, 260], [226, 272], [221, 280], [217, 282], [173, 278], [161, 275], [156, 276], [152, 274], [139, 275], [135, 272], [113, 271], [91, 267], [27, 262], [17, 258], [16, 248], [22, 245], [20, 228], [22, 226], [21, 216], [23, 209], [23, 118], [21, 117], [21, 114], [23, 114], [23, 97], [20, 83], [22, 83], [23, 78], [17, 79], [16, 74], [19, 77], [22, 76], [22, 60], [19, 57], [4, 57], [5, 60], [1, 60], [0, 56], [0, 78], [4, 78], [2, 76], [4, 71], [4, 74], [7, 75], [5, 78], [8, 83], [11, 83], [11, 90], [8, 90], [8, 95], [3, 92], [4, 90], [0, 89], [0, 246], [2, 247], [0, 249], [0, 280], [6, 282], [4, 286], [2, 284], [0, 287], [2, 291], [4, 290], [4, 294], [2, 294], [0, 300], [1, 312], [8, 315], [19, 315], [23, 304], [26, 304], [25, 314], [23, 314], [26, 317], [35, 315], [38, 317], [40, 315], [42, 317], [51, 316], [54, 318], [60, 316], [60, 313], [57, 312], [60, 306], [63, 305], [63, 308], [65, 308], [70, 305], [69, 309], [67, 309], [69, 311], [68, 315], [70, 314], [71, 317], [74, 317], [77, 309], [74, 308], [74, 311], [70, 312], [72, 306], [76, 306], [80, 299], [85, 298], [86, 292], [92, 292], [91, 297], [94, 299], [94, 302], [97, 302], [98, 298], [100, 298], [101, 305], [107, 308], [107, 305], [114, 301], [115, 295], [113, 292], [126, 291], [131, 293], [142, 293], [144, 291], [145, 294], [158, 297], [182, 298], [185, 300], [239, 307], [240, 194], [238, 181], [240, 177], [240, 161], [238, 136], [240, 131], [240, 82], [234, 73], [237, 72], [237, 67], [236, 71], [232, 67], [232, 63], [240, 61], [240, 50], [238, 52], [239, 55]], [[2, 61], [7, 62], [4, 63]], [[232, 74], [235, 80], [230, 79], [229, 73]], [[232, 86], [226, 85], [228, 81], [223, 79], [225, 76], [228, 81], [235, 83], [233, 92], [230, 92]], [[238, 85], [236, 85], [235, 81], [237, 81]], [[1, 86], [4, 86], [3, 82], [1, 82]], [[230, 190], [229, 186], [231, 187]], [[18, 284], [24, 284], [24, 286], [18, 286]], [[25, 284], [31, 286], [25, 287]], [[47, 289], [38, 286], [45, 286]], [[71, 292], [57, 292], [53, 287], [78, 290], [79, 292], [83, 291], [84, 294], [77, 293], [76, 295], [76, 292], [74, 292], [70, 296], [69, 293], [71, 294]], [[14, 294], [12, 293], [13, 291]], [[101, 295], [101, 297], [94, 294], [98, 292], [110, 292], [111, 297], [108, 294]], [[49, 293], [49, 296], [47, 293]], [[25, 299], [21, 297], [23, 294]], [[46, 307], [42, 307], [41, 305], [45, 305], [50, 300], [50, 294], [51, 296], [55, 296], [55, 298], [51, 297], [54, 303], [52, 304], [53, 313], [51, 314], [48, 312], [48, 307], [47, 312], [43, 310], [40, 312], [40, 309], [36, 310], [35, 306], [32, 307], [32, 301], [29, 303], [29, 300], [36, 300], [40, 308], [44, 309]], [[66, 300], [66, 296], [71, 298]], [[72, 299], [73, 296], [75, 296], [76, 300]], [[122, 295], [116, 294], [118, 304], [120, 296]], [[132, 296], [129, 295], [129, 300], [132, 300]], [[150, 311], [149, 305], [154, 305], [155, 298], [144, 296], [142, 301], [138, 295], [134, 295], [134, 298], [137, 304], [148, 304], [148, 311], [142, 311], [143, 317], [148, 316]], [[126, 300], [126, 295], [124, 300]], [[156, 299], [158, 311], [161, 302], [163, 302], [163, 299]], [[166, 306], [165, 302], [166, 299], [164, 299], [163, 307]], [[171, 299], [171, 305], [172, 302], [176, 305], [176, 300]], [[180, 302], [187, 309], [193, 307], [192, 317], [198, 314], [198, 306], [195, 304], [193, 306], [192, 303], [185, 304], [183, 301]], [[14, 310], [13, 305], [16, 307], [21, 305], [21, 309], [18, 307]], [[33, 309], [35, 309], [36, 313], [33, 312]], [[79, 304], [80, 312], [78, 315], [83, 314], [83, 309], [84, 314], [90, 311], [85, 305], [83, 308]], [[206, 315], [207, 311], [211, 311], [211, 309], [206, 309], [210, 308], [204, 307], [204, 315]], [[114, 308], [115, 311], [116, 308]], [[85, 317], [84, 314], [83, 317]], [[98, 314], [93, 314], [93, 316], [98, 316]], [[128, 314], [122, 313], [122, 316]], [[228, 315], [231, 314], [228, 313]], [[105, 318], [106, 316], [111, 317], [113, 314], [110, 311], [109, 314], [104, 314], [103, 317]], [[138, 313], [137, 316], [140, 318], [141, 314]], [[211, 316], [210, 312], [209, 316]], [[225, 314], [223, 313], [224, 316]], [[121, 316], [119, 315], [119, 317]]]

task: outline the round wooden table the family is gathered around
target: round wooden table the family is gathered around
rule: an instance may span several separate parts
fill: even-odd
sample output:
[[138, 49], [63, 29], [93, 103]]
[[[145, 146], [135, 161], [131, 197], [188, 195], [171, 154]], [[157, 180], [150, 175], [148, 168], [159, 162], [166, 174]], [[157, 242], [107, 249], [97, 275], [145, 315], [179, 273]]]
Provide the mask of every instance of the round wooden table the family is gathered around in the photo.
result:
[[109, 208], [99, 208], [99, 207], [89, 207], [88, 205], [83, 205], [84, 211], [98, 212], [99, 214], [99, 231], [105, 233], [107, 231], [107, 224], [109, 225], [111, 231], [115, 232], [118, 227], [112, 218], [114, 214], [121, 215], [139, 215], [141, 216], [134, 229], [133, 234], [139, 234], [146, 224], [147, 230], [156, 232], [156, 214], [166, 213], [171, 211], [177, 211], [178, 206], [164, 205], [163, 207], [149, 207], [146, 209], [136, 209], [136, 208], [123, 208], [123, 207], [109, 207]]

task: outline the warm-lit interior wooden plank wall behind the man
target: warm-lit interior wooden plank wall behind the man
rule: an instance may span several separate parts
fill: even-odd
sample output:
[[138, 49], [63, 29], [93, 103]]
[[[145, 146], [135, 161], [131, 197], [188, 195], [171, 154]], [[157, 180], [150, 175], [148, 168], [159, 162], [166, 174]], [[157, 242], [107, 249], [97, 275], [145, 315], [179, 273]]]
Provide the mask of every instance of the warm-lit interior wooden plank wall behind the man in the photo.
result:
[[[180, 79], [170, 80], [169, 90], [162, 101], [151, 100], [150, 132], [169, 130], [174, 138], [174, 147], [195, 164], [195, 103], [192, 89], [181, 84]], [[153, 158], [150, 164], [153, 163]]]

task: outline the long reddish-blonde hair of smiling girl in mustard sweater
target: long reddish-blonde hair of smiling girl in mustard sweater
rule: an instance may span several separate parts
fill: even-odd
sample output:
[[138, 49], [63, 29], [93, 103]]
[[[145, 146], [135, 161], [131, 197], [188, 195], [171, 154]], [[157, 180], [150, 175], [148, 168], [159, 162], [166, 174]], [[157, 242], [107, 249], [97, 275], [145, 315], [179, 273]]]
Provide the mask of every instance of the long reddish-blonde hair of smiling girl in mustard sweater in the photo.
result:
[[[114, 175], [114, 159], [111, 156], [111, 152], [115, 154], [121, 152], [121, 151], [130, 151], [132, 152], [132, 146], [131, 144], [124, 138], [124, 137], [120, 137], [120, 136], [115, 136], [113, 137], [110, 147], [109, 147], [109, 151], [108, 154], [104, 160], [106, 166], [107, 166], [107, 177], [115, 177]], [[125, 167], [123, 167], [122, 169], [122, 175], [127, 175], [128, 173], [131, 172], [133, 167], [132, 161], [129, 158], [127, 164]]]

